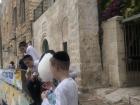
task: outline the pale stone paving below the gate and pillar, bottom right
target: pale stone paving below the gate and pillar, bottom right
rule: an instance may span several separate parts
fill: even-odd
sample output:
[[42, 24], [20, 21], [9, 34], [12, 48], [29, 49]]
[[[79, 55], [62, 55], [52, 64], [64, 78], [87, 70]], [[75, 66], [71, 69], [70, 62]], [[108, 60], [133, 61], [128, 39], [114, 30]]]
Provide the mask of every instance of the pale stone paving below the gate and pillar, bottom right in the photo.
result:
[[140, 87], [98, 89], [94, 96], [81, 95], [80, 105], [140, 105]]

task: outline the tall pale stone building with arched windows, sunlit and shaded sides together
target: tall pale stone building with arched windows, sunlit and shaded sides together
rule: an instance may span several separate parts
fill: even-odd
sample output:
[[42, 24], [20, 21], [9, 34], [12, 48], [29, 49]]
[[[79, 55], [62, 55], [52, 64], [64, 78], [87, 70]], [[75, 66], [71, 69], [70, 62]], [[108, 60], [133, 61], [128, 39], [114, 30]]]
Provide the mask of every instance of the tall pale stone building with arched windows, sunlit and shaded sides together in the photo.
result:
[[80, 70], [82, 90], [101, 87], [96, 0], [57, 0], [34, 22], [33, 33], [40, 53], [45, 39], [55, 51], [64, 50], [67, 42], [71, 66]]

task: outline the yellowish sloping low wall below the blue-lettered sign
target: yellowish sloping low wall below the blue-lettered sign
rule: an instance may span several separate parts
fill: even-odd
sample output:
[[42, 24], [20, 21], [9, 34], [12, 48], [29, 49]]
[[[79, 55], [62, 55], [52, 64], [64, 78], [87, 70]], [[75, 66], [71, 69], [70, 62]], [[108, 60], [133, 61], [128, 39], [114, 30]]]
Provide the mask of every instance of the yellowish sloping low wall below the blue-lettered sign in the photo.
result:
[[[29, 105], [30, 98], [17, 88], [0, 80], [0, 100], [7, 105]], [[1, 105], [1, 104], [0, 104]]]

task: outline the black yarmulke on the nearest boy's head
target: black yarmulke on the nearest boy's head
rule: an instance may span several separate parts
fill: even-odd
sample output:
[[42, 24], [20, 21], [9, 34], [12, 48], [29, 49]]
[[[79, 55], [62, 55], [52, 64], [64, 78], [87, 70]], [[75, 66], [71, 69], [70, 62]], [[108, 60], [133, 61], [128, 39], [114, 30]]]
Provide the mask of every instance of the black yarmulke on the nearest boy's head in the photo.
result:
[[68, 62], [70, 61], [69, 55], [65, 51], [56, 52], [53, 57], [59, 61]]

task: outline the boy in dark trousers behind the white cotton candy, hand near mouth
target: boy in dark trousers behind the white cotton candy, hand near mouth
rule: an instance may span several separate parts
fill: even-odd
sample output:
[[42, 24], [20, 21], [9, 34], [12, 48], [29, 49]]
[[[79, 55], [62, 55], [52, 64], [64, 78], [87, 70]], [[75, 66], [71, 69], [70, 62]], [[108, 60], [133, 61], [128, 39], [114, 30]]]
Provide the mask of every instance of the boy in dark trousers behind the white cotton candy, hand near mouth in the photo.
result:
[[31, 105], [40, 105], [42, 83], [38, 79], [38, 72], [37, 72], [38, 64], [34, 63], [33, 58], [30, 55], [25, 55], [23, 61], [28, 67], [25, 76], [27, 79], [27, 88], [34, 101], [34, 103], [32, 103]]

